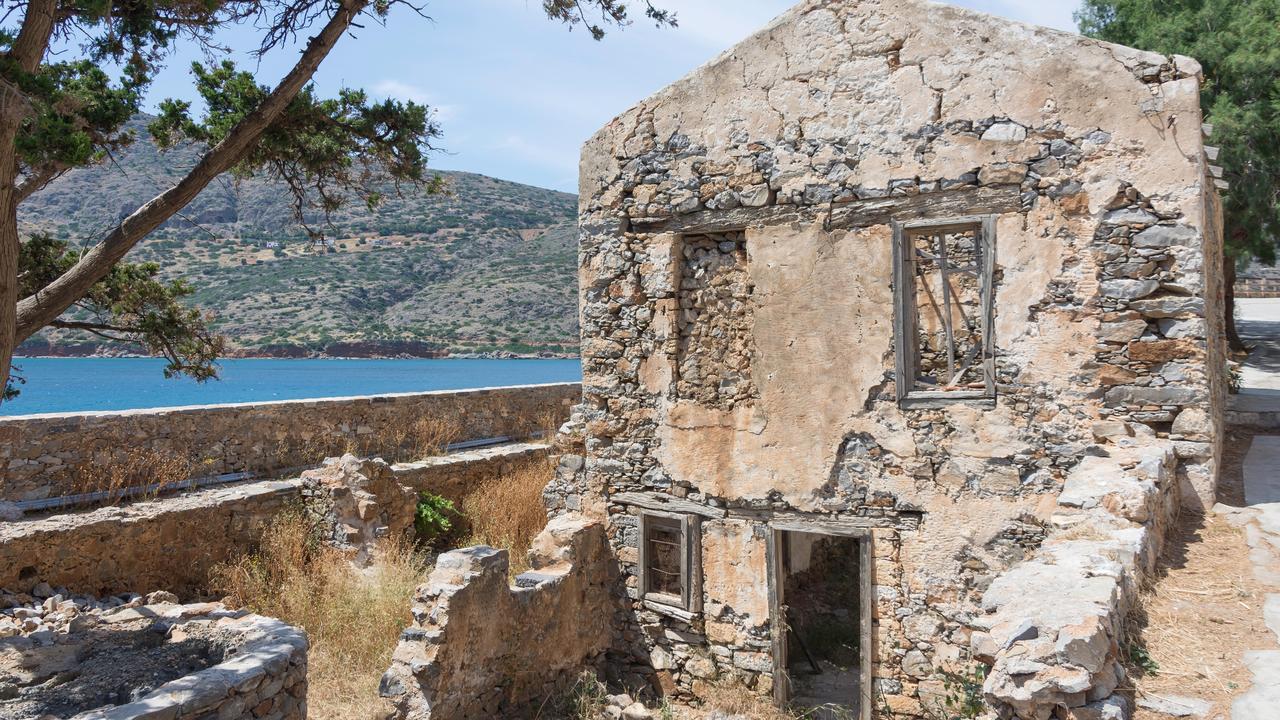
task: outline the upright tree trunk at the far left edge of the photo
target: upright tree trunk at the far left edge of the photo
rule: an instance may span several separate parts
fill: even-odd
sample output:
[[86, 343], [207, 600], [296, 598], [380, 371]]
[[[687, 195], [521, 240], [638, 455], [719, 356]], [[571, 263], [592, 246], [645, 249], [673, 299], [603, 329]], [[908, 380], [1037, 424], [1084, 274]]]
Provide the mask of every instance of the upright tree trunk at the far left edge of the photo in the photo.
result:
[[[54, 33], [56, 0], [31, 0], [8, 55], [19, 72], [40, 67]], [[17, 78], [12, 78], [17, 79]], [[18, 346], [18, 128], [26, 99], [10, 78], [0, 78], [0, 393], [9, 387], [9, 366]], [[3, 395], [0, 395], [3, 397]]]

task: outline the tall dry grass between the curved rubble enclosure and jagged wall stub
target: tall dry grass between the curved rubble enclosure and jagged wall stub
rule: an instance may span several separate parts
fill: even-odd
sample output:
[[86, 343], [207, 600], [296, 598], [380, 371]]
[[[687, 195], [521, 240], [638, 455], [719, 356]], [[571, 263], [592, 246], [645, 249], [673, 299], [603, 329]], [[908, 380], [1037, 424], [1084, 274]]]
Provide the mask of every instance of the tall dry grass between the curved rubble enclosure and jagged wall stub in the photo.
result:
[[285, 512], [259, 552], [215, 571], [215, 585], [232, 605], [306, 630], [308, 717], [372, 720], [389, 711], [378, 680], [411, 621], [413, 589], [428, 570], [407, 543], [384, 547], [371, 568], [357, 570], [316, 542], [301, 514]]

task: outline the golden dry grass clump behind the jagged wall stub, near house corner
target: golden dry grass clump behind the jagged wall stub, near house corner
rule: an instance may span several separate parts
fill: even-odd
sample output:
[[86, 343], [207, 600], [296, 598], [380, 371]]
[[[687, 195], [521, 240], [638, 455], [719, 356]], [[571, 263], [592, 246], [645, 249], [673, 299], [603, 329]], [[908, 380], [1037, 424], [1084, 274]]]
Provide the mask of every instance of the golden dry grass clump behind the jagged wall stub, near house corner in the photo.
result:
[[553, 474], [547, 460], [531, 460], [463, 496], [458, 510], [470, 527], [463, 544], [506, 548], [511, 551], [512, 574], [527, 570], [529, 547], [547, 525], [543, 488]]

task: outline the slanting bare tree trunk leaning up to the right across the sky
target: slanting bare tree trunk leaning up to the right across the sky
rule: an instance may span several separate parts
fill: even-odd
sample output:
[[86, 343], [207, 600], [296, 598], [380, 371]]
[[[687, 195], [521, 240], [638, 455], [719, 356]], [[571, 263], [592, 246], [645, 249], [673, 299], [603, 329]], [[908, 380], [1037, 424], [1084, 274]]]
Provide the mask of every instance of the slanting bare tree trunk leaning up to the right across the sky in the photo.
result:
[[[221, 142], [205, 152], [186, 177], [124, 218], [61, 277], [18, 302], [13, 334], [0, 332], [0, 372], [4, 377], [8, 377], [14, 346], [49, 325], [82, 299], [140, 240], [195, 200], [214, 178], [234, 167], [252, 149], [262, 132], [311, 81], [320, 63], [367, 5], [369, 0], [343, 0], [266, 100], [246, 115]], [[12, 146], [12, 141], [8, 145]]]

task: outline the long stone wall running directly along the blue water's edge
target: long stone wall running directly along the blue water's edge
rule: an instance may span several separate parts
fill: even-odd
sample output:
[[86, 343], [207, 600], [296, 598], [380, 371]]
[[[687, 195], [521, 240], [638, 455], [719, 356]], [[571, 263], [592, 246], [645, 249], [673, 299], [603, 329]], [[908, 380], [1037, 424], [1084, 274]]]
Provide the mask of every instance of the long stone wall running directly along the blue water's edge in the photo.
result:
[[529, 437], [554, 430], [580, 397], [580, 384], [558, 383], [0, 418], [0, 501], [82, 492], [77, 480], [87, 470], [113, 464], [146, 479], [163, 461], [205, 477], [310, 465], [343, 452], [402, 456], [424, 419], [449, 425], [457, 441]]

